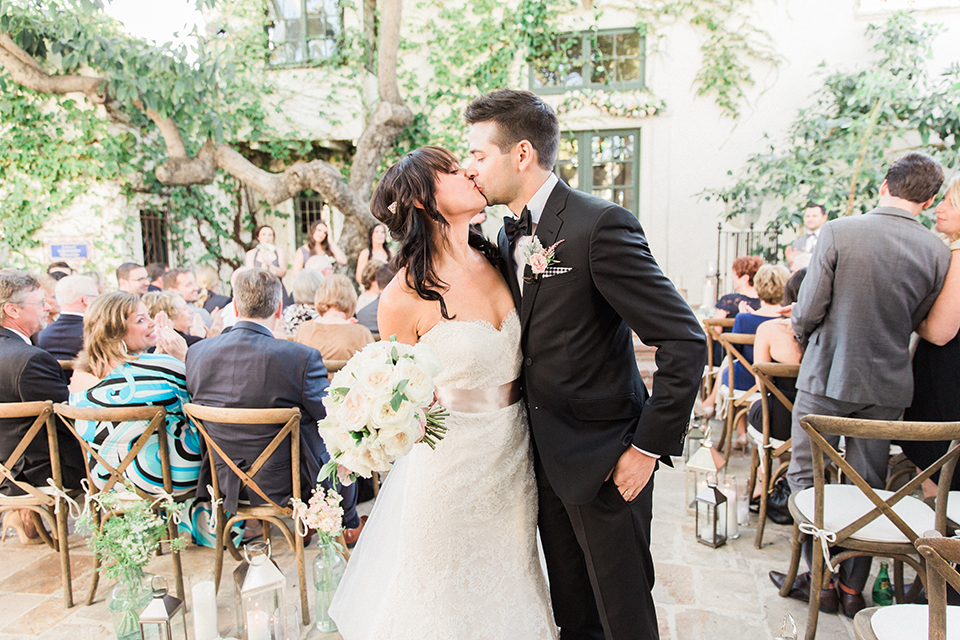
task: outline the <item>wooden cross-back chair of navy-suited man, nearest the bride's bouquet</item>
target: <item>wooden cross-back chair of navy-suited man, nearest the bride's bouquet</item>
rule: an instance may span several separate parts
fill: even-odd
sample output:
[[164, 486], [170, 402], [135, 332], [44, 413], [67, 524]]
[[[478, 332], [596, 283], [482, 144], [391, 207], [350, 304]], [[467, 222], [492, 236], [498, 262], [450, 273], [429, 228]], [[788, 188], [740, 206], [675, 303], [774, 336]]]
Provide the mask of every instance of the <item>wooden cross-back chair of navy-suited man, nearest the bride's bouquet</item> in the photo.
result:
[[[216, 542], [216, 560], [214, 564], [214, 576], [216, 586], [220, 588], [220, 574], [223, 572], [223, 550], [229, 549], [230, 555], [237, 561], [241, 560], [240, 553], [230, 539], [230, 527], [243, 520], [259, 520], [263, 523], [263, 537], [269, 539], [270, 524], [275, 524], [283, 533], [290, 550], [297, 556], [297, 578], [300, 587], [300, 611], [302, 613], [303, 624], [310, 624], [310, 607], [307, 603], [307, 580], [306, 569], [303, 560], [303, 538], [297, 535], [296, 522], [294, 530], [291, 530], [287, 524], [281, 520], [282, 517], [293, 518], [293, 509], [289, 506], [281, 506], [274, 502], [257, 484], [254, 477], [274, 454], [277, 448], [284, 440], [290, 440], [290, 480], [293, 498], [300, 499], [300, 409], [225, 409], [219, 407], [206, 407], [199, 404], [186, 404], [183, 407], [184, 413], [190, 418], [190, 421], [197, 427], [200, 435], [206, 443], [208, 449], [207, 459], [210, 466], [211, 486], [213, 488], [214, 509], [217, 514], [217, 542]], [[283, 426], [270, 441], [270, 444], [260, 452], [256, 460], [247, 470], [241, 469], [230, 459], [230, 456], [224, 452], [216, 440], [204, 426], [204, 422], [218, 422], [221, 424], [235, 425], [253, 425], [253, 424], [282, 424]], [[245, 505], [239, 504], [237, 512], [226, 516], [223, 508], [223, 494], [220, 490], [220, 480], [217, 477], [216, 458], [219, 458], [231, 473], [240, 480], [241, 490], [253, 492], [260, 496], [266, 504]]]

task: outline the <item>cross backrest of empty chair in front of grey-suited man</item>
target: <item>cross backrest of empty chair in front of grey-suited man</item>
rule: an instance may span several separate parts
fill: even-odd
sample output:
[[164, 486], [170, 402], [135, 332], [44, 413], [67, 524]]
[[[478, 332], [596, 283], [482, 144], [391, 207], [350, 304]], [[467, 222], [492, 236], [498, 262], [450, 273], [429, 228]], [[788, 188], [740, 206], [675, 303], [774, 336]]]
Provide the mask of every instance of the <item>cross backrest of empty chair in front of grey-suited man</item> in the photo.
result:
[[[814, 507], [814, 526], [823, 529], [823, 497], [825, 485], [824, 455], [830, 458], [837, 468], [855, 484], [873, 503], [874, 507], [863, 516], [835, 532], [836, 544], [841, 544], [852, 533], [870, 524], [882, 515], [892, 522], [911, 543], [916, 542], [923, 532], [917, 533], [897, 515], [893, 506], [904, 497], [912, 494], [920, 484], [940, 471], [937, 485], [936, 519], [937, 531], [944, 533], [947, 526], [947, 496], [950, 481], [953, 478], [957, 459], [960, 457], [960, 422], [900, 422], [898, 420], [864, 420], [860, 418], [837, 418], [833, 416], [809, 415], [800, 419], [800, 426], [810, 437], [813, 449], [813, 483], [816, 496]], [[877, 440], [914, 440], [942, 441], [951, 440], [947, 452], [937, 461], [921, 471], [910, 482], [901, 487], [886, 500], [860, 477], [849, 462], [823, 437], [823, 434], [846, 436], [848, 438], [873, 438]]]

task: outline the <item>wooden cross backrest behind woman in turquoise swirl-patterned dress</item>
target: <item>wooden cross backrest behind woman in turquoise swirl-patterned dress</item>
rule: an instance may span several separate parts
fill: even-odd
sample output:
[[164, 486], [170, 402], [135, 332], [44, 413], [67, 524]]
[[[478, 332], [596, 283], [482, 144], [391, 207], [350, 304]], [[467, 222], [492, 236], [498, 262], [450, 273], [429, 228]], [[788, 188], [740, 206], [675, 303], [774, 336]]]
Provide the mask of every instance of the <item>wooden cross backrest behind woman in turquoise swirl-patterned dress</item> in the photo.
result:
[[[60, 416], [67, 428], [73, 434], [73, 437], [80, 443], [84, 453], [99, 463], [99, 465], [109, 474], [109, 478], [100, 487], [100, 491], [110, 491], [117, 483], [124, 484], [123, 473], [136, 459], [140, 450], [146, 446], [150, 437], [156, 434], [158, 444], [160, 445], [160, 466], [163, 473], [163, 488], [167, 493], [173, 490], [173, 478], [170, 475], [170, 449], [167, 443], [167, 410], [162, 406], [140, 406], [140, 407], [74, 407], [69, 404], [58, 403], [53, 406], [54, 412]], [[133, 446], [124, 456], [116, 467], [107, 462], [90, 441], [85, 439], [77, 431], [76, 421], [87, 420], [90, 422], [134, 422], [143, 421], [147, 423], [143, 433], [134, 441]], [[94, 484], [93, 477], [90, 475], [90, 465], [86, 465], [87, 480], [90, 486]], [[143, 491], [139, 487], [134, 487], [137, 494], [144, 499], [155, 498], [156, 496]]]

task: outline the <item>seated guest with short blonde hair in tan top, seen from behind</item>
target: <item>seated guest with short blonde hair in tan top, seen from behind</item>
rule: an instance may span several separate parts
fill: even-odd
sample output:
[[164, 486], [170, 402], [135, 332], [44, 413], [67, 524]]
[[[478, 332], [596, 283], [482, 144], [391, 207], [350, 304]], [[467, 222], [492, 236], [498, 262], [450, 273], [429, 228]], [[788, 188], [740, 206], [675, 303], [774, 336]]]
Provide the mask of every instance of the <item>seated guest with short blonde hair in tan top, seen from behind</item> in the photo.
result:
[[301, 324], [296, 340], [319, 351], [324, 361], [349, 360], [373, 342], [370, 330], [353, 318], [357, 292], [346, 276], [324, 278], [314, 301], [320, 317]]

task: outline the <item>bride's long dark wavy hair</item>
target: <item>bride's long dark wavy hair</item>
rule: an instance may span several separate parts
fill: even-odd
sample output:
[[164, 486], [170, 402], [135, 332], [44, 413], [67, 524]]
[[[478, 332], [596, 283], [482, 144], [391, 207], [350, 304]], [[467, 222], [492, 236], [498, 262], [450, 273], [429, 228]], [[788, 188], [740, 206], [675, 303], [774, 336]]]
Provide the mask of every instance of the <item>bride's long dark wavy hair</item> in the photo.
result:
[[[373, 192], [370, 209], [400, 242], [392, 267], [406, 267], [407, 286], [424, 300], [440, 303], [440, 314], [451, 320], [443, 293], [448, 286], [437, 276], [437, 238], [449, 224], [437, 210], [437, 174], [450, 173], [458, 165], [452, 153], [440, 147], [420, 147], [387, 169]], [[434, 233], [434, 230], [440, 233]], [[470, 246], [497, 265], [500, 254], [483, 236], [470, 233]]]

